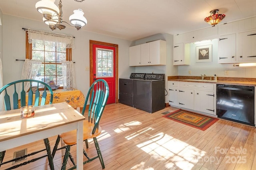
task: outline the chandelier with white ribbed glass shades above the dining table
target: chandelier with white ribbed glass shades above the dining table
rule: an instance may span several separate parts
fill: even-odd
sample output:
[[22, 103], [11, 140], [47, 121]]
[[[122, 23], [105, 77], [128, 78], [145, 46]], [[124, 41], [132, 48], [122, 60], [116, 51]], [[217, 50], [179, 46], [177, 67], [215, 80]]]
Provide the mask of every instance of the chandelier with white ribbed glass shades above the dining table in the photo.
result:
[[[77, 2], [82, 2], [84, 0], [75, 0]], [[62, 2], [60, 0], [59, 7], [54, 4], [55, 0], [40, 0], [36, 2], [36, 10], [43, 14], [44, 18], [43, 21], [47, 25], [49, 25], [50, 29], [54, 30], [56, 28], [58, 29], [64, 29], [66, 28], [65, 25], [62, 23], [67, 23], [66, 21], [62, 21]], [[81, 9], [74, 10], [74, 14], [72, 14], [69, 17], [69, 20], [71, 22], [67, 23], [68, 25], [71, 25], [75, 27], [77, 30], [82, 29], [83, 26], [87, 24], [87, 20], [84, 17], [84, 12]]]

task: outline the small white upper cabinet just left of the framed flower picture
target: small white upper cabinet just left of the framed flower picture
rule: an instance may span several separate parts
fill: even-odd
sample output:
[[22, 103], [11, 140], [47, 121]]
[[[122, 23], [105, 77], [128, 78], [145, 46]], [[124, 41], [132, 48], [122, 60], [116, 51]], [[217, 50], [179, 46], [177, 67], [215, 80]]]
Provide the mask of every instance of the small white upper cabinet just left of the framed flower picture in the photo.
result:
[[174, 44], [173, 49], [173, 65], [189, 65], [190, 64], [190, 44], [178, 43]]

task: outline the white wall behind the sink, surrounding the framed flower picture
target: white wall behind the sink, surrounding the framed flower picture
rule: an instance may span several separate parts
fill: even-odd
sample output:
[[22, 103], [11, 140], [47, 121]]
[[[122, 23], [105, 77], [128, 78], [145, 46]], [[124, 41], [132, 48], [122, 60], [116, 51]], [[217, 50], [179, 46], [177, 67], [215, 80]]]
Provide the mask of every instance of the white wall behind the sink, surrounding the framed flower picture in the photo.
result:
[[[196, 47], [212, 44], [212, 62], [196, 63]], [[188, 71], [191, 70], [191, 74]], [[225, 75], [225, 70], [228, 75]], [[194, 44], [190, 43], [190, 65], [178, 66], [179, 76], [214, 76], [220, 77], [241, 77], [241, 78], [256, 78], [256, 68], [242, 68], [233, 66], [233, 64], [218, 64], [218, 39], [213, 39], [208, 43]]]

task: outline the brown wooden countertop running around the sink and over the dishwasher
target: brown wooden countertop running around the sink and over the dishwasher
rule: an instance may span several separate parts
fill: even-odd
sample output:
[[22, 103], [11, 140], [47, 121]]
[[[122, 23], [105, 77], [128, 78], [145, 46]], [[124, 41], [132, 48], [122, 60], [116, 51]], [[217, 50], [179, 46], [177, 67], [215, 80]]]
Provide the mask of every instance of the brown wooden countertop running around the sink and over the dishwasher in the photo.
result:
[[[192, 77], [192, 76], [168, 76], [168, 81], [181, 81], [181, 82], [197, 82], [197, 83], [212, 83], [212, 84], [232, 84], [232, 85], [241, 85], [241, 86], [256, 86], [255, 78], [217, 78], [216, 81], [197, 81], [201, 77]], [[194, 79], [194, 80], [187, 80]], [[205, 78], [206, 79], [206, 78]], [[232, 80], [233, 79], [233, 80]], [[206, 79], [210, 80], [210, 78]]]

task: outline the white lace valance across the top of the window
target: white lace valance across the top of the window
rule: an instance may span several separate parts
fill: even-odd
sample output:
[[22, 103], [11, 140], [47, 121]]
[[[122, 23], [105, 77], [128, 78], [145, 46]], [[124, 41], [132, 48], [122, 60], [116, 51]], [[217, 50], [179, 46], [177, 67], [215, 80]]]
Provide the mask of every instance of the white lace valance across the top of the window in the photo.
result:
[[28, 43], [32, 43], [33, 39], [42, 40], [43, 42], [56, 42], [56, 46], [58, 45], [58, 43], [62, 43], [66, 44], [66, 48], [75, 48], [74, 37], [64, 34], [55, 34], [46, 31], [35, 31], [28, 29]]

